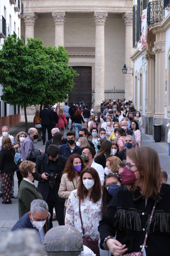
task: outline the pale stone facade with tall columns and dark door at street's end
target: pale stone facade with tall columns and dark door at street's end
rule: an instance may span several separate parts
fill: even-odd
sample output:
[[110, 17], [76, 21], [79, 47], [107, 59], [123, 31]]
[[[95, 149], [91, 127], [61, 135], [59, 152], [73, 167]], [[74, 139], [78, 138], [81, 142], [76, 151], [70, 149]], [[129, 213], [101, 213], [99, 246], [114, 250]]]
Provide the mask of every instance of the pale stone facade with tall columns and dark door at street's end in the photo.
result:
[[105, 99], [104, 90], [125, 89], [133, 98], [133, 79], [124, 75], [132, 66], [132, 0], [24, 0], [21, 38], [40, 38], [48, 46], [64, 46], [69, 66], [80, 75], [69, 101], [88, 102], [94, 90], [94, 108]]

